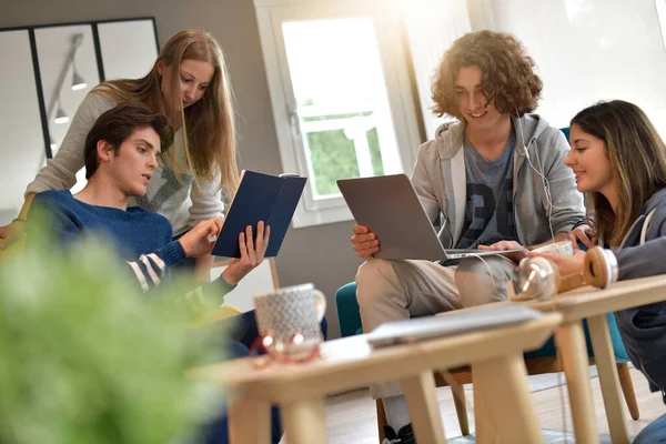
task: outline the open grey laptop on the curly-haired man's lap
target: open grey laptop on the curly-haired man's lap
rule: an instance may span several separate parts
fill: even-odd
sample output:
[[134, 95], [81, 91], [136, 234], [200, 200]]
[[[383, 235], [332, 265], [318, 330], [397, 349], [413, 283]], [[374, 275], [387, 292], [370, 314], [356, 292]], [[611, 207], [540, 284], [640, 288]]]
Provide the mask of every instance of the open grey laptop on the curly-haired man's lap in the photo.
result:
[[341, 179], [337, 188], [356, 223], [377, 235], [375, 258], [448, 261], [521, 251], [445, 249], [405, 174]]

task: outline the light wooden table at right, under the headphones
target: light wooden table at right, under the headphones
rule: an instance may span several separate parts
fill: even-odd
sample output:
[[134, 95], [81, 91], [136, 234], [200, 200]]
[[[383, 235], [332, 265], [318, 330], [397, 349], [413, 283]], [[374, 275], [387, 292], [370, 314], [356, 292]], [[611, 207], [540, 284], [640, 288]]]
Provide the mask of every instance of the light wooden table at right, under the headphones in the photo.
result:
[[619, 380], [606, 314], [666, 300], [666, 275], [616, 282], [605, 290], [585, 286], [553, 301], [529, 302], [544, 312], [556, 311], [564, 322], [555, 332], [569, 394], [576, 443], [598, 443], [583, 320], [587, 319], [604, 406], [614, 444], [629, 443]]

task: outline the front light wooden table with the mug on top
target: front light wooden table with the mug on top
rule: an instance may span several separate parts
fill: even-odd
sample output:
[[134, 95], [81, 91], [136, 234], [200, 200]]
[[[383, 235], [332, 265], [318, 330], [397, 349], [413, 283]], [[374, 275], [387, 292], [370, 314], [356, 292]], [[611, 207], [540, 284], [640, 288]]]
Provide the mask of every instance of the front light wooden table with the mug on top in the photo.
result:
[[390, 381], [403, 384], [418, 442], [440, 444], [446, 440], [433, 370], [471, 364], [484, 417], [502, 442], [543, 443], [523, 352], [542, 346], [561, 322], [559, 313], [546, 313], [519, 325], [379, 350], [366, 335], [356, 335], [324, 343], [322, 357], [305, 364], [258, 370], [252, 359], [241, 359], [189, 375], [230, 389], [229, 433], [235, 444], [269, 443], [271, 404], [282, 408], [290, 444], [326, 443], [326, 394]]

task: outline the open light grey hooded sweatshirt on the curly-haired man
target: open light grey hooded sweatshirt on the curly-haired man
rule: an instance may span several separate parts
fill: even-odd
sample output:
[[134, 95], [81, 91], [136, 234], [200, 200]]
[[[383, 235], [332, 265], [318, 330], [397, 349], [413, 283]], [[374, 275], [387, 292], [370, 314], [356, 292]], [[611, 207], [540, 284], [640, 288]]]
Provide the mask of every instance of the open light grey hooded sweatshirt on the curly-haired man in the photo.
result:
[[[533, 245], [552, 233], [568, 232], [585, 218], [583, 194], [564, 164], [568, 143], [562, 131], [537, 114], [513, 119], [513, 205], [518, 242]], [[440, 240], [455, 248], [465, 222], [466, 178], [464, 123], [441, 125], [418, 149], [412, 184], [432, 222], [442, 215]]]

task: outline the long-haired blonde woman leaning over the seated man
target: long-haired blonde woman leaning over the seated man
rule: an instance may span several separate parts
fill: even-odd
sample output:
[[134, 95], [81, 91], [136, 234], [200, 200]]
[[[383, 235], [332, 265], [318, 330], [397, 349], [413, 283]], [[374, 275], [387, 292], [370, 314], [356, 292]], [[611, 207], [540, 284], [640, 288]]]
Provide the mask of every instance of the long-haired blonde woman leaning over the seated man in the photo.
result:
[[[174, 238], [200, 221], [222, 215], [222, 189], [233, 194], [239, 183], [229, 75], [215, 39], [185, 30], [167, 42], [145, 77], [107, 81], [88, 93], [56, 158], [28, 185], [19, 216], [0, 228], [0, 248], [23, 234], [36, 193], [74, 185], [75, 173], [83, 168], [88, 132], [104, 111], [130, 101], [163, 113], [175, 131], [173, 147], [160, 159], [148, 193], [135, 203], [164, 215]], [[196, 260], [200, 279], [208, 278], [211, 263], [210, 255]], [[230, 266], [236, 271], [231, 273], [232, 284], [252, 269], [238, 261]]]

